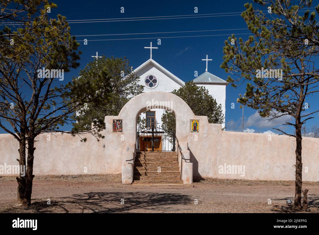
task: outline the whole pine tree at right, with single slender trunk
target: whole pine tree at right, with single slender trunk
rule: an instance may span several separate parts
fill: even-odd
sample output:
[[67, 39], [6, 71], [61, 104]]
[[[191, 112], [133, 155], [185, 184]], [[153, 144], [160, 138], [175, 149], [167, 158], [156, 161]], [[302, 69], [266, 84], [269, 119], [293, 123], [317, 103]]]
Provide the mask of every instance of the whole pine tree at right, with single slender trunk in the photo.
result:
[[301, 128], [319, 110], [306, 111], [309, 95], [315, 95], [319, 74], [313, 61], [318, 55], [318, 29], [315, 20], [319, 14], [301, 9], [311, 7], [312, 1], [255, 0], [263, 11], [246, 3], [241, 13], [253, 35], [247, 41], [232, 35], [225, 41], [224, 62], [221, 68], [227, 73], [227, 82], [233, 87], [247, 82], [246, 92], [238, 102], [258, 110], [261, 117], [270, 120], [290, 115], [294, 122], [283, 125], [293, 126], [295, 134], [274, 128], [282, 134], [296, 138], [296, 177], [294, 208], [301, 209], [302, 161]]

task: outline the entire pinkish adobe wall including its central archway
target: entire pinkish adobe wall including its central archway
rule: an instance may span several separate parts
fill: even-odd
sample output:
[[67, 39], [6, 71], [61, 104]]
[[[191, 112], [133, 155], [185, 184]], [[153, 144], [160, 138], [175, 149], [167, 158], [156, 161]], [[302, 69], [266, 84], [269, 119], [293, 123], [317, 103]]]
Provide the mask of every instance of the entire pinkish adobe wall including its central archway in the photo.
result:
[[[258, 133], [222, 131], [206, 116], [196, 116], [179, 97], [162, 91], [146, 92], [132, 98], [118, 116], [106, 116], [105, 139], [97, 142], [90, 134], [87, 142], [68, 134], [42, 134], [35, 144], [35, 175], [75, 175], [121, 173], [125, 154], [135, 148], [136, 118], [149, 100], [172, 101], [176, 116], [176, 137], [188, 142], [194, 176], [249, 180], [294, 180], [295, 139]], [[185, 106], [186, 104], [186, 106]], [[113, 119], [123, 120], [123, 132], [113, 132]], [[199, 133], [190, 133], [190, 119], [199, 120]], [[271, 140], [269, 139], [271, 137]], [[105, 147], [103, 147], [105, 145]], [[319, 138], [303, 138], [303, 181], [319, 181]], [[0, 135], [0, 166], [18, 165], [18, 141]], [[183, 149], [186, 150], [186, 149]], [[220, 166], [245, 167], [245, 174], [226, 174]], [[306, 168], [307, 167], [307, 168]], [[86, 172], [85, 172], [86, 169]], [[223, 168], [224, 169], [224, 168]], [[308, 171], [308, 172], [306, 172]], [[229, 172], [228, 172], [229, 173]]]

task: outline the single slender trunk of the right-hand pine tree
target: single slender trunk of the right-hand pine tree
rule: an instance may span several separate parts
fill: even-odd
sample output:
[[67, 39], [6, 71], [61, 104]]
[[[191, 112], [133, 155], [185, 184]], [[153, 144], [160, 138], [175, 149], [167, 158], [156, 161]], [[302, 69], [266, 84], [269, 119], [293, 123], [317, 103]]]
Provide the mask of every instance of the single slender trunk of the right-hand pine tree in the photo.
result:
[[295, 210], [301, 210], [302, 162], [301, 162], [301, 123], [296, 120], [296, 180], [295, 180]]

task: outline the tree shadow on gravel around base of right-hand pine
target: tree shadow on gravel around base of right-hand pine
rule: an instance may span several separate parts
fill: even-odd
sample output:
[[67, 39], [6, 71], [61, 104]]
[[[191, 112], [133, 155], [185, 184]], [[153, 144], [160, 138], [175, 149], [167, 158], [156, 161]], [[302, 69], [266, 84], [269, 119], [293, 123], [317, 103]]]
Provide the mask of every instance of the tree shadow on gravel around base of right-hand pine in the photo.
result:
[[[289, 205], [274, 205], [273, 209], [271, 209], [271, 211], [274, 211], [274, 212], [281, 212], [281, 213], [291, 213], [291, 212], [298, 212], [298, 211], [295, 211], [294, 210], [294, 203], [293, 203], [293, 200], [294, 200], [294, 197], [286, 197], [286, 198], [278, 198], [278, 199], [275, 199], [275, 200], [289, 200], [291, 199], [292, 200], [292, 203], [289, 204]], [[301, 205], [303, 203], [303, 197], [301, 197]], [[315, 194], [308, 194], [307, 196], [307, 203], [308, 203], [308, 209], [307, 211], [311, 211], [312, 210], [316, 210], [316, 209], [319, 209], [319, 196], [318, 195], [315, 195]], [[301, 211], [304, 211], [304, 210], [301, 210]]]

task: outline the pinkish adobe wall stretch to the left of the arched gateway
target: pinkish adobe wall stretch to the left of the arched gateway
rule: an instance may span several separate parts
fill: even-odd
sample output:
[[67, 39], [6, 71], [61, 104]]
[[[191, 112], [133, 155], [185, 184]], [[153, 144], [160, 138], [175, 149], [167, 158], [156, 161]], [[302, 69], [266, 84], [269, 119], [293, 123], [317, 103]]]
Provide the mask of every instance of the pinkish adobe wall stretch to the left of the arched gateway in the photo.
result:
[[[79, 137], [68, 134], [41, 134], [35, 143], [34, 175], [78, 175], [120, 173], [120, 161], [107, 158], [113, 147], [103, 148], [105, 141], [85, 135], [88, 140], [80, 142]], [[10, 134], [0, 135], [0, 165], [19, 165], [19, 143]]]

